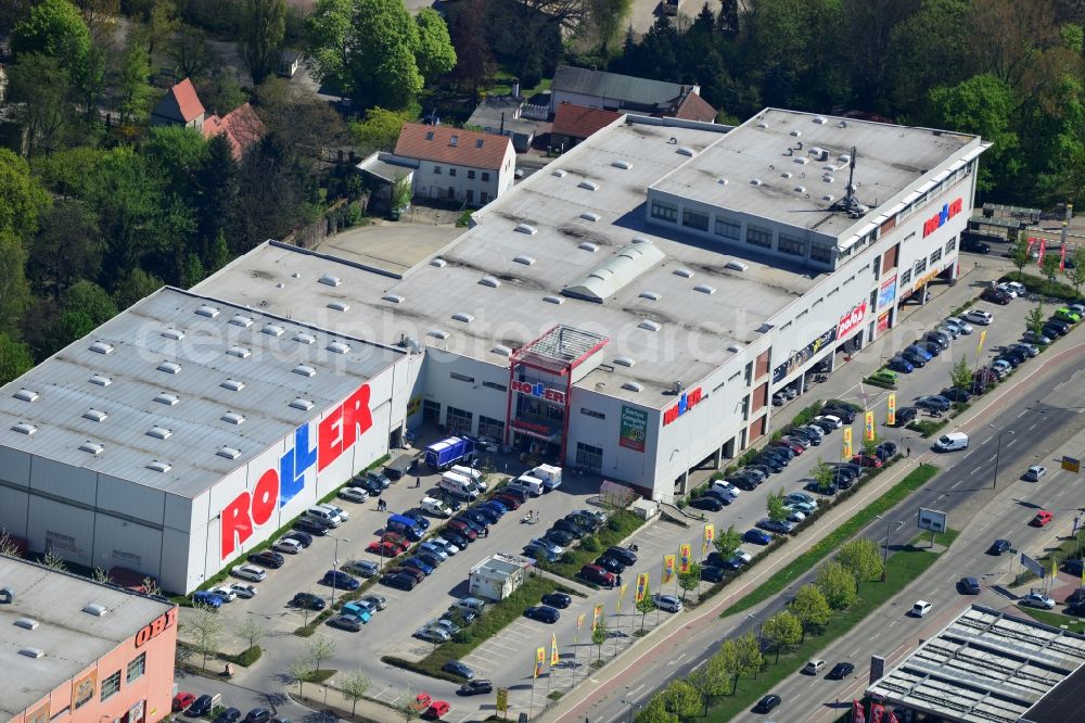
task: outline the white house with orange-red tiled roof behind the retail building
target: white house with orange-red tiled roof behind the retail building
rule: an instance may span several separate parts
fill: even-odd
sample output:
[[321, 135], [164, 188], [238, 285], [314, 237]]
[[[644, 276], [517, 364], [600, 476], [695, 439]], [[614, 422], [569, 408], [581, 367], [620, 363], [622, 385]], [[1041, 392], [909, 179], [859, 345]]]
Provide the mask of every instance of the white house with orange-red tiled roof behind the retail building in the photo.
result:
[[516, 170], [509, 138], [451, 126], [406, 124], [394, 155], [418, 164], [414, 195], [469, 206], [486, 205], [508, 191]]

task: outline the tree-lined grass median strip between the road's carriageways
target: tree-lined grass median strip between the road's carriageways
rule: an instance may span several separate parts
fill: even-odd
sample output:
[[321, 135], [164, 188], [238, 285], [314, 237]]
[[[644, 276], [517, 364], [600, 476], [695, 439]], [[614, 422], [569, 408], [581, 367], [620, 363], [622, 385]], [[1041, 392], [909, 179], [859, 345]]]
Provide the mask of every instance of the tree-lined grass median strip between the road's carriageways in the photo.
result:
[[[939, 542], [942, 543], [944, 537], [948, 545], [956, 536], [956, 533], [940, 535]], [[781, 654], [779, 662], [775, 652], [765, 652], [765, 667], [755, 676], [740, 677], [737, 690], [729, 696], [716, 698], [703, 720], [723, 723], [749, 712], [762, 696], [770, 693], [834, 640], [851, 633], [864, 618], [896, 595], [908, 582], [923, 574], [937, 559], [937, 554], [910, 546], [893, 554], [885, 566], [885, 582], [859, 583], [859, 599], [852, 607], [835, 613], [820, 635], [807, 635], [805, 640], [790, 651]]]

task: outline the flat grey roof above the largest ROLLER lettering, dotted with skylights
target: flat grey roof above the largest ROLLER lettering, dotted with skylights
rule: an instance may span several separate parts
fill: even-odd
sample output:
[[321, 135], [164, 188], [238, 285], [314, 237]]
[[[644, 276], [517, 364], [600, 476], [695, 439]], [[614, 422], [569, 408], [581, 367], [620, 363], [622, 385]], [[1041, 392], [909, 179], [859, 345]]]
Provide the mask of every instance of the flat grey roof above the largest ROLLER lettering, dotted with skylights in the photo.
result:
[[194, 497], [403, 355], [282, 310], [164, 288], [0, 388], [0, 447]]

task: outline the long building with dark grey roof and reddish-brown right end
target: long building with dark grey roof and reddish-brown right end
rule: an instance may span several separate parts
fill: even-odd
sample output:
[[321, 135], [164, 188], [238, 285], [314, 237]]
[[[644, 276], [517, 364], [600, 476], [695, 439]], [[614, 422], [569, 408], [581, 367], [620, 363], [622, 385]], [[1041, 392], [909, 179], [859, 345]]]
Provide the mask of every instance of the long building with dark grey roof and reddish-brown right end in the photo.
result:
[[712, 123], [716, 111], [700, 93], [698, 85], [559, 65], [550, 84], [550, 112], [557, 113], [562, 103], [572, 103], [590, 109]]

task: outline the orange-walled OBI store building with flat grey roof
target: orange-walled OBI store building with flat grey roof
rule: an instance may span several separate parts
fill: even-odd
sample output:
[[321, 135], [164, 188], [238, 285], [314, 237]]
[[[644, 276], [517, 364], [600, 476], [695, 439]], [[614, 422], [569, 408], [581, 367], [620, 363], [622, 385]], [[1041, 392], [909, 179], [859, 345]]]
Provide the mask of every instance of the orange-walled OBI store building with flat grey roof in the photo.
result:
[[177, 606], [0, 557], [0, 721], [170, 714]]

